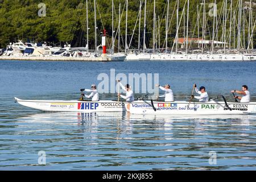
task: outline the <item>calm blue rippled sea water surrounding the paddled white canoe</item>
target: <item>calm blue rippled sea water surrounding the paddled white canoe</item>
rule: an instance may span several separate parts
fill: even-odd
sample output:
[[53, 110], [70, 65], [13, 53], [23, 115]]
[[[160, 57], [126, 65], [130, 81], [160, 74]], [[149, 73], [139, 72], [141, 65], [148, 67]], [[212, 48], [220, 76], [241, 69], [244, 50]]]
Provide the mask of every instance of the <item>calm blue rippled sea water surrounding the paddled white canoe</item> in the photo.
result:
[[[179, 99], [196, 82], [210, 96], [224, 94], [230, 101], [230, 90], [246, 84], [256, 101], [255, 62], [0, 61], [0, 169], [256, 169], [256, 115], [44, 113], [14, 102], [77, 99], [80, 88], [98, 84], [97, 76], [110, 75], [111, 68], [116, 74], [159, 73], [160, 84], [171, 84]], [[38, 164], [39, 151], [46, 152], [46, 165]]]

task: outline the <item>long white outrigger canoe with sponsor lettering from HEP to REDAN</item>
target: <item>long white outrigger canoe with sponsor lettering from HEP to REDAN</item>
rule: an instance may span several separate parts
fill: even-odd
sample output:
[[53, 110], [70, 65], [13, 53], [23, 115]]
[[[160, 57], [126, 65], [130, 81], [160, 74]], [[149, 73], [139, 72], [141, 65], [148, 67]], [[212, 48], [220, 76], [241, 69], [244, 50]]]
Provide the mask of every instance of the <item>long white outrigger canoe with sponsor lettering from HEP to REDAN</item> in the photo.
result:
[[60, 101], [60, 100], [20, 100], [20, 105], [43, 111], [77, 111], [92, 112], [118, 112], [130, 111], [131, 114], [171, 114], [171, 115], [225, 115], [225, 114], [251, 114], [256, 113], [256, 102], [152, 102], [152, 101]]

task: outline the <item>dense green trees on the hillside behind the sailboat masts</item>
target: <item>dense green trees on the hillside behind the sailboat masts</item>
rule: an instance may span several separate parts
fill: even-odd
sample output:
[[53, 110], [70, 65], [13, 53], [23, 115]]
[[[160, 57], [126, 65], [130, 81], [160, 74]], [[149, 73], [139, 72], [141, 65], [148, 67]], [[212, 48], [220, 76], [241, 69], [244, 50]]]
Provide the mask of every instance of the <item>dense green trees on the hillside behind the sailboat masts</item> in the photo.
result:
[[[233, 5], [237, 5], [238, 0], [233, 0]], [[94, 4], [93, 0], [88, 0], [88, 16], [89, 16], [89, 48], [94, 48]], [[147, 0], [147, 13], [146, 13], [146, 44], [147, 47], [152, 47], [152, 32], [153, 32], [153, 0]], [[189, 37], [197, 38], [197, 5], [200, 8], [201, 0], [190, 0], [189, 6]], [[212, 36], [212, 24], [213, 19], [208, 16], [210, 7], [209, 3], [214, 0], [205, 1], [205, 11], [207, 13], [207, 39]], [[223, 1], [217, 1], [218, 14], [221, 15], [220, 9]], [[38, 16], [39, 3], [45, 3], [46, 16]], [[230, 4], [230, 1], [228, 1]], [[114, 30], [117, 32], [118, 27], [118, 11], [119, 4], [121, 5], [121, 46], [124, 47], [125, 41], [125, 0], [114, 0]], [[128, 44], [130, 43], [131, 36], [137, 17], [139, 13], [139, 0], [129, 0], [128, 7]], [[5, 47], [10, 42], [18, 40], [27, 40], [35, 42], [68, 42], [72, 46], [85, 46], [86, 44], [86, 1], [85, 0], [0, 0], [0, 47]], [[175, 39], [176, 34], [176, 1], [170, 1], [170, 29], [168, 32], [168, 46], [171, 47]], [[180, 0], [179, 16], [183, 11], [185, 0]], [[229, 6], [229, 5], [228, 5]], [[159, 42], [160, 35], [160, 47], [163, 47], [165, 32], [166, 32], [166, 0], [156, 0], [156, 44]], [[255, 7], [254, 7], [255, 10]], [[185, 6], [185, 16], [187, 7]], [[253, 11], [254, 20], [256, 17], [255, 11]], [[173, 14], [174, 13], [174, 14]], [[237, 14], [238, 16], [238, 14]], [[245, 35], [248, 35], [247, 25], [249, 19], [249, 11], [246, 11], [245, 18], [247, 21]], [[158, 20], [159, 17], [159, 20]], [[183, 16], [182, 16], [183, 18]], [[185, 17], [186, 18], [186, 17]], [[203, 10], [200, 11], [200, 19], [203, 20]], [[220, 16], [221, 19], [221, 16]], [[143, 42], [143, 21], [144, 21], [144, 4], [141, 11], [141, 43]], [[158, 24], [160, 22], [160, 27]], [[186, 20], [185, 20], [186, 22]], [[179, 37], [184, 37], [184, 21], [181, 20], [179, 28]], [[229, 21], [228, 21], [229, 30]], [[107, 42], [110, 44], [112, 35], [112, 1], [111, 0], [97, 0], [97, 36], [98, 43], [101, 42], [100, 35], [104, 28], [108, 31]], [[133, 42], [131, 48], [138, 47], [138, 27], [134, 31]], [[200, 36], [202, 35], [202, 25], [200, 22]], [[219, 29], [221, 30], [221, 28]], [[255, 30], [256, 31], [256, 30]], [[254, 32], [255, 32], [254, 31]], [[159, 34], [160, 32], [160, 34]], [[237, 32], [236, 32], [237, 34]], [[218, 32], [218, 37], [222, 35], [222, 32]], [[233, 36], [233, 33], [232, 33]], [[254, 35], [255, 37], [255, 35]], [[118, 38], [118, 36], [117, 36]], [[233, 39], [233, 37], [232, 37]], [[246, 38], [246, 43], [247, 43]], [[255, 38], [256, 39], [256, 38]], [[237, 41], [237, 39], [236, 39]], [[254, 41], [255, 44], [255, 41]], [[117, 47], [117, 41], [115, 42]]]

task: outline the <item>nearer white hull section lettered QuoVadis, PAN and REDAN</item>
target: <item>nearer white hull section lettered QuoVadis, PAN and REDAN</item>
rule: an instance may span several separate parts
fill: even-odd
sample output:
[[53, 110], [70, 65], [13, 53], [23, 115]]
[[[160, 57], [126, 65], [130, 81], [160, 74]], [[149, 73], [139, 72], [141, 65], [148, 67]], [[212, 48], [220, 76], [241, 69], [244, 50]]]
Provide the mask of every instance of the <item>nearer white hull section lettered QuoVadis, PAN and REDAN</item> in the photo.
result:
[[[154, 107], [152, 107], [152, 104]], [[153, 109], [154, 108], [154, 109]], [[256, 114], [256, 102], [151, 102], [130, 104], [131, 114], [170, 114], [170, 115], [226, 115], [226, 114]]]

